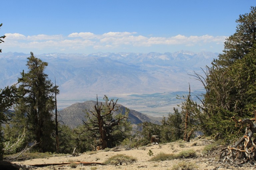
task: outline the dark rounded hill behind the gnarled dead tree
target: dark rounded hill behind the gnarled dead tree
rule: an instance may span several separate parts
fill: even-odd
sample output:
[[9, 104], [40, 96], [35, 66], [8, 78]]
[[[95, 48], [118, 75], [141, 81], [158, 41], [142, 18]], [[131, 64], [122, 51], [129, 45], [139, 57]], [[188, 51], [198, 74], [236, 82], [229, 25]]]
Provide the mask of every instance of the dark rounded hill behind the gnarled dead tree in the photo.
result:
[[[59, 111], [59, 121], [64, 122], [65, 125], [75, 128], [79, 125], [83, 124], [83, 121], [87, 121], [86, 112], [93, 111], [95, 101], [86, 101], [83, 103], [75, 103], [61, 111]], [[122, 105], [116, 105], [118, 107], [118, 111], [114, 112], [113, 115], [117, 115], [119, 113], [125, 114], [125, 107]], [[160, 124], [162, 118], [153, 118], [148, 117], [142, 113], [139, 113], [135, 110], [129, 110], [129, 119], [128, 121], [131, 124], [140, 124], [143, 122], [151, 122], [154, 124]]]

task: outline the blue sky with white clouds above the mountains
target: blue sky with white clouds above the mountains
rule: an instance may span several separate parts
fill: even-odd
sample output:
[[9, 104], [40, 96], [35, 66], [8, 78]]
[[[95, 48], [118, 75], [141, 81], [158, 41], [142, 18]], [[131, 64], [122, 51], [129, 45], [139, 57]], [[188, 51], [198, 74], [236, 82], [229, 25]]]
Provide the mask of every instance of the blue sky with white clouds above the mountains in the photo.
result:
[[5, 0], [2, 52], [222, 52], [255, 0]]

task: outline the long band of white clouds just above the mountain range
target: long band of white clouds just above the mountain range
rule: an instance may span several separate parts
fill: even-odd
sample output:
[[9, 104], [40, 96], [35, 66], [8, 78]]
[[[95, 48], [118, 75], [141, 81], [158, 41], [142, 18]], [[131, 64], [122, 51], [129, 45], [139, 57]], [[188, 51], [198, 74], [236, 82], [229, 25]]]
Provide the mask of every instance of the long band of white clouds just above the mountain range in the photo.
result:
[[[177, 35], [173, 37], [147, 37], [138, 35], [136, 32], [108, 32], [101, 35], [80, 32], [71, 33], [67, 36], [63, 35], [31, 35], [25, 36], [19, 33], [5, 34], [6, 38], [1, 48], [7, 48], [11, 51], [19, 50], [38, 50], [45, 52], [59, 52], [65, 51], [86, 52], [86, 50], [93, 51], [125, 51], [135, 52], [133, 49], [150, 49], [156, 51], [157, 49], [165, 50], [171, 49], [173, 46], [180, 46], [180, 48], [194, 47], [200, 50], [209, 50], [214, 46], [223, 46], [225, 36], [189, 36]], [[155, 49], [155, 50], [154, 50]], [[141, 51], [143, 52], [143, 51]]]

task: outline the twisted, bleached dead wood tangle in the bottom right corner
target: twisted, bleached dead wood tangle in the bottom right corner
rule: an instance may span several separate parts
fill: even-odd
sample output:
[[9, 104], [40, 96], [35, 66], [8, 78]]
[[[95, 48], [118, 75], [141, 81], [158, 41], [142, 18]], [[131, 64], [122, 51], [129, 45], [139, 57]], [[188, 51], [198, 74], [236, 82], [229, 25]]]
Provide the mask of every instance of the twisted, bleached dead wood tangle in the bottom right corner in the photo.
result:
[[[256, 117], [256, 112], [255, 112]], [[235, 163], [236, 160], [245, 162], [256, 163], [256, 139], [252, 139], [253, 134], [256, 132], [256, 121], [255, 119], [243, 119], [237, 121], [234, 117], [232, 119], [235, 121], [237, 126], [241, 124], [240, 130], [246, 126], [245, 133], [240, 137], [233, 145], [228, 146], [222, 151], [220, 159], [224, 158], [224, 162]], [[239, 130], [239, 131], [240, 131]]]

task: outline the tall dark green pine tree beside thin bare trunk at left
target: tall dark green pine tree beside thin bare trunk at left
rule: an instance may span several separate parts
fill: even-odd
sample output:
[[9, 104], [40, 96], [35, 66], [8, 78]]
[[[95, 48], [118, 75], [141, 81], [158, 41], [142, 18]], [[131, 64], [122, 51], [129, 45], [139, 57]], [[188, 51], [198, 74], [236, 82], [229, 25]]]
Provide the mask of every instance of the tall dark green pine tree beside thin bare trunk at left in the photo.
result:
[[16, 126], [21, 126], [19, 121], [24, 123], [22, 127], [29, 133], [29, 142], [35, 140], [39, 151], [53, 151], [52, 133], [55, 127], [52, 111], [55, 108], [56, 88], [44, 73], [47, 62], [34, 57], [31, 52], [26, 65], [29, 71], [23, 72], [22, 77], [18, 79], [21, 83], [19, 90], [23, 92], [24, 97], [15, 108], [16, 117], [13, 122], [16, 122]]

